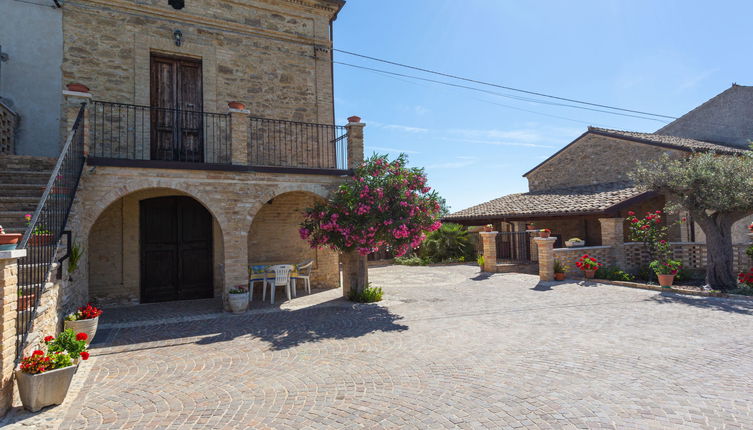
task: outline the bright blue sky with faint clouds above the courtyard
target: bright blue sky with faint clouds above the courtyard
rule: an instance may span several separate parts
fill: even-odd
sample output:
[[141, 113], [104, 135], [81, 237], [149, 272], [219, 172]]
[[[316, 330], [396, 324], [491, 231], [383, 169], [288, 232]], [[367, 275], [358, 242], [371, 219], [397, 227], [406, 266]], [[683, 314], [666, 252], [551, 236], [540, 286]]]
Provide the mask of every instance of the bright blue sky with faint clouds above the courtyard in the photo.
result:
[[[751, 16], [750, 1], [350, 0], [335, 47], [679, 116], [732, 82], [753, 85]], [[451, 82], [342, 53], [335, 61]], [[367, 154], [402, 151], [425, 167], [452, 210], [526, 191], [521, 175], [588, 125], [651, 132], [664, 124], [343, 65], [335, 65], [335, 109], [338, 123], [363, 117]]]

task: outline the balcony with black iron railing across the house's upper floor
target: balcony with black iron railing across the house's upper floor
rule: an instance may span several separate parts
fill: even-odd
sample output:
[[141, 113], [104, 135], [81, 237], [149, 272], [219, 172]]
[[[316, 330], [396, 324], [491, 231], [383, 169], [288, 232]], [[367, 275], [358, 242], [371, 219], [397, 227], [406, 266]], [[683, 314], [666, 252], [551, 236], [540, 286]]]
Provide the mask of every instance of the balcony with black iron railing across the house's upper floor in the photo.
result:
[[91, 165], [344, 175], [346, 127], [92, 102]]

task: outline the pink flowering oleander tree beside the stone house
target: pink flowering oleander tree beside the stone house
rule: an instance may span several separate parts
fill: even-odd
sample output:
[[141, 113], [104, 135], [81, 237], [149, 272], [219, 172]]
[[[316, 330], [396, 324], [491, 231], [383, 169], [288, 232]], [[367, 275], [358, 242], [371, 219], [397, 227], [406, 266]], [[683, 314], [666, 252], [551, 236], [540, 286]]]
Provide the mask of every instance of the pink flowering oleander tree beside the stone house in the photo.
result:
[[367, 286], [367, 255], [380, 249], [405, 255], [441, 226], [440, 197], [426, 186], [423, 169], [406, 163], [404, 154], [392, 161], [375, 154], [328, 201], [306, 210], [301, 237], [312, 248], [342, 253], [349, 288]]

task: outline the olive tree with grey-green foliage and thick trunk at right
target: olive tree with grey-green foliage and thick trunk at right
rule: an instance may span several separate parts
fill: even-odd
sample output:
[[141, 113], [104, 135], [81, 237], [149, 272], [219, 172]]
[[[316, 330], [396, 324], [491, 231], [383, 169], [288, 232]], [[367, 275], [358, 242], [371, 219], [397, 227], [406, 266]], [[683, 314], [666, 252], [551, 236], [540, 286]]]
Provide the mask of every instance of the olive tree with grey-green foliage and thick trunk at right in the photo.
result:
[[639, 163], [631, 173], [646, 190], [684, 208], [706, 234], [706, 282], [714, 289], [736, 287], [732, 267], [732, 225], [753, 213], [753, 151], [740, 155], [696, 153], [691, 157]]

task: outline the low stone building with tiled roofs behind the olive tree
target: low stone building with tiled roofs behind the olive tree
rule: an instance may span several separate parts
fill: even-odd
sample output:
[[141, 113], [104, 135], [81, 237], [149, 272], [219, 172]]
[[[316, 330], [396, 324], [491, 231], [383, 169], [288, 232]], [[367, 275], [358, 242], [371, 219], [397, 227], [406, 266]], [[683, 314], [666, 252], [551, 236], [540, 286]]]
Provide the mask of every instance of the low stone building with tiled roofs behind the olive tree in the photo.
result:
[[[473, 226], [493, 224], [502, 232], [549, 228], [556, 248], [574, 237], [585, 240], [587, 246], [606, 245], [605, 236], [627, 212], [643, 214], [665, 207], [664, 196], [641, 192], [630, 182], [628, 172], [636, 162], [663, 154], [742, 153], [753, 139], [752, 106], [753, 87], [735, 84], [655, 133], [589, 127], [523, 175], [528, 179], [528, 192], [481, 203], [444, 220]], [[749, 217], [735, 224], [734, 243], [748, 241], [746, 226], [750, 222]], [[623, 236], [627, 240], [627, 232], [623, 231]], [[673, 241], [704, 241], [703, 232], [692, 222], [673, 225], [670, 236]]]

